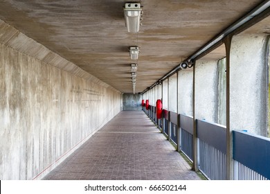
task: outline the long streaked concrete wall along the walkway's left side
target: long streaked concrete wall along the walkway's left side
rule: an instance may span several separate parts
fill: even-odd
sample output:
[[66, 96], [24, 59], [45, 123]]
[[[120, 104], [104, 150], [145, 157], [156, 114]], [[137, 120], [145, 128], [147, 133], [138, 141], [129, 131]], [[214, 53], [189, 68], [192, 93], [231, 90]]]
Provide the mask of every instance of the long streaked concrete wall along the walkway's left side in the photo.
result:
[[0, 179], [41, 179], [120, 112], [121, 94], [14, 32], [0, 26]]

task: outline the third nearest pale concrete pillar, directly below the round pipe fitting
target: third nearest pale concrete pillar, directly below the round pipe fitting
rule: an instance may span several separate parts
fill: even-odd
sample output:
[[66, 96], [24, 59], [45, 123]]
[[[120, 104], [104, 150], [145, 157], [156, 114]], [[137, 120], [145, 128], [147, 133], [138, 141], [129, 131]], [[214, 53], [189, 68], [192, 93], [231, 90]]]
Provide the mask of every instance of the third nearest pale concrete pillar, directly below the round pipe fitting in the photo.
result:
[[192, 116], [193, 105], [193, 72], [179, 71], [178, 73], [178, 113]]

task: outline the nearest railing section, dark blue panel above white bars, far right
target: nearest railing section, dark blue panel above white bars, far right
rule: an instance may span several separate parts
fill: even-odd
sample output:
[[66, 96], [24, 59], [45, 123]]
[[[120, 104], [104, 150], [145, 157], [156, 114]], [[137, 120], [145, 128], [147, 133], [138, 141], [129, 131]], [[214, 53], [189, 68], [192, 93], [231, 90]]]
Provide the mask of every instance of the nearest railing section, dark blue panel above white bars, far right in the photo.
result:
[[270, 179], [270, 139], [233, 131], [234, 179]]

